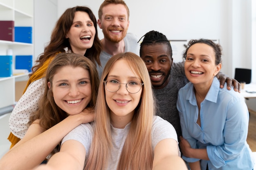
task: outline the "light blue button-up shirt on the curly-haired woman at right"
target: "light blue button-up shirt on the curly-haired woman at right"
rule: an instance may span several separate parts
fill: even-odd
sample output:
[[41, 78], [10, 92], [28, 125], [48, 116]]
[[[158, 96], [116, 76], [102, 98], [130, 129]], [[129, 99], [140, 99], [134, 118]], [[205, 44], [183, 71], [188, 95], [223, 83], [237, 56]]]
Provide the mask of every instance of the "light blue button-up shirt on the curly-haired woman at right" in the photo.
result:
[[[201, 126], [198, 120], [198, 106], [192, 83], [186, 84], [178, 93], [177, 109], [180, 115], [182, 136], [192, 148], [207, 148], [210, 161], [201, 160], [205, 170], [252, 170], [254, 159], [246, 138], [249, 112], [241, 94], [232, 88], [223, 89], [216, 77], [200, 104]], [[188, 162], [199, 159], [184, 157]]]

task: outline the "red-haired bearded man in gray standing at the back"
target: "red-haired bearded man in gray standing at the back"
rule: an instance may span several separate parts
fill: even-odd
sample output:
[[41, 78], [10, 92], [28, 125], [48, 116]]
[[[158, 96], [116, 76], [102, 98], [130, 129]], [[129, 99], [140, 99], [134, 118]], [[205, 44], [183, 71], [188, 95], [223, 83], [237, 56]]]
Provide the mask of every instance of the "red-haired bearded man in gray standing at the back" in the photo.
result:
[[99, 8], [98, 25], [104, 38], [101, 39], [103, 51], [100, 54], [101, 66], [97, 65], [99, 77], [108, 59], [122, 52], [139, 55], [138, 39], [127, 33], [129, 26], [129, 9], [123, 0], [105, 0]]

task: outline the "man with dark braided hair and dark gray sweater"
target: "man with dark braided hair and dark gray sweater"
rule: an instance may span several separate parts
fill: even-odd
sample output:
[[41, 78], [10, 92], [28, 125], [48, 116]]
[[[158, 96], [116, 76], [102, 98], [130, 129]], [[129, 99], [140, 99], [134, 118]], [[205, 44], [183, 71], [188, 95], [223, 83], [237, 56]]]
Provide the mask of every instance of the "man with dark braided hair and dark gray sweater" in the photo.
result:
[[[157, 116], [170, 122], [179, 137], [182, 135], [180, 116], [176, 107], [177, 94], [188, 79], [184, 73], [184, 62], [173, 63], [171, 44], [165, 35], [157, 31], [149, 31], [144, 35], [140, 45], [140, 57], [144, 60], [153, 85], [159, 111]], [[225, 74], [218, 74], [220, 87], [227, 81], [227, 89], [240, 91], [240, 84]]]

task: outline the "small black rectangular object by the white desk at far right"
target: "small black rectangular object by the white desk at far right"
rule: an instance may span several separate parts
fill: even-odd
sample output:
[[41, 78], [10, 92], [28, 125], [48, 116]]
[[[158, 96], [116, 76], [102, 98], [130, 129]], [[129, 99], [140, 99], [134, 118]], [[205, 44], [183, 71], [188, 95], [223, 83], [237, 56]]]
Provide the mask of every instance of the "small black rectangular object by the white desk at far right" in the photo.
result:
[[252, 79], [252, 70], [246, 68], [236, 68], [235, 70], [235, 79], [240, 83], [245, 81], [246, 84], [251, 83]]

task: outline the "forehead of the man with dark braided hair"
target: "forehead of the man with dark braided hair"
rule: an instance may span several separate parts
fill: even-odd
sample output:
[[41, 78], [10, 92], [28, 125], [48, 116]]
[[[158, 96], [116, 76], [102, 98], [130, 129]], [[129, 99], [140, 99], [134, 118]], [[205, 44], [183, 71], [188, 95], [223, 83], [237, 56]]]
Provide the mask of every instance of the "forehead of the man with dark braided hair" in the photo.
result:
[[161, 55], [165, 55], [171, 58], [171, 54], [169, 51], [169, 48], [167, 46], [167, 44], [161, 43], [161, 44], [154, 44], [154, 45], [144, 45], [141, 47], [141, 57], [145, 57], [145, 56], [161, 56]]

